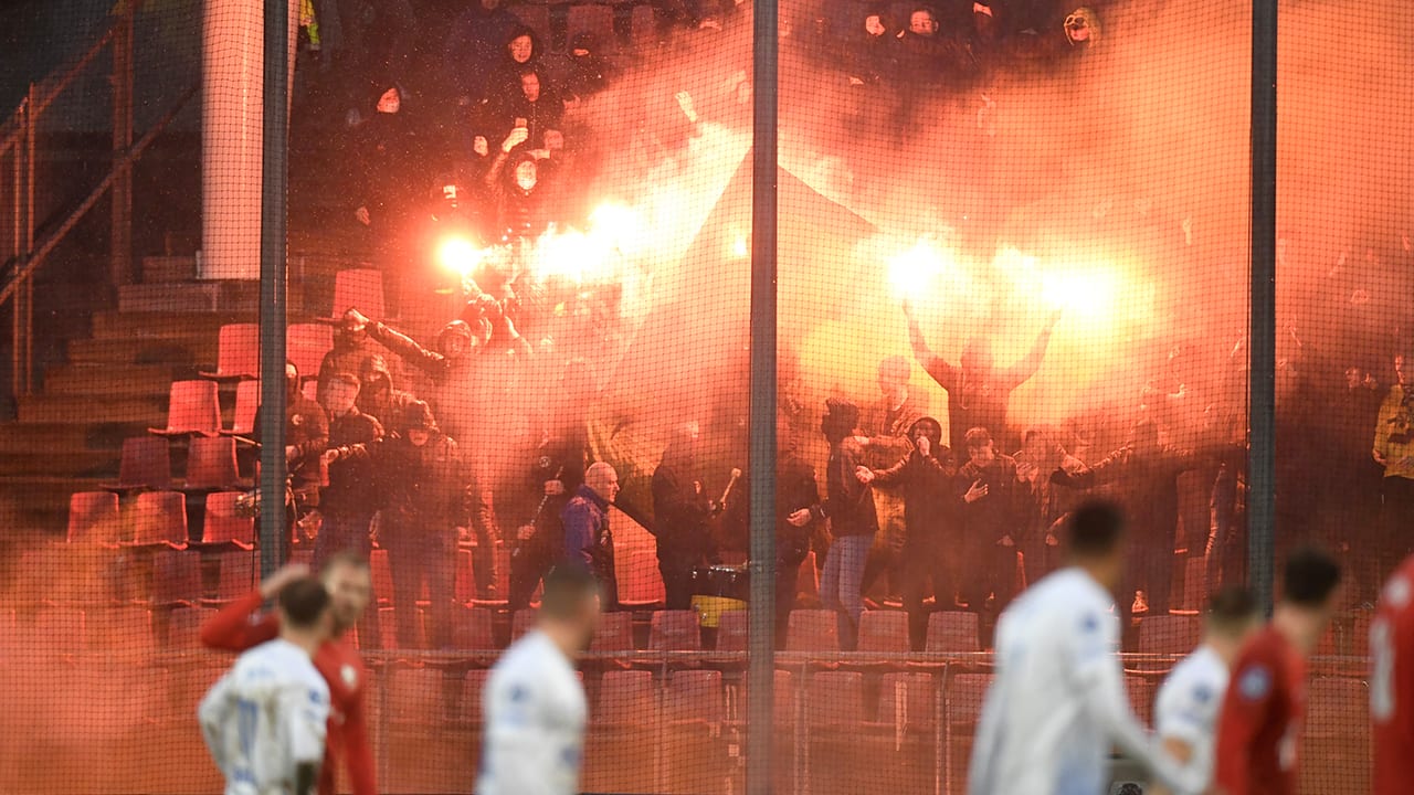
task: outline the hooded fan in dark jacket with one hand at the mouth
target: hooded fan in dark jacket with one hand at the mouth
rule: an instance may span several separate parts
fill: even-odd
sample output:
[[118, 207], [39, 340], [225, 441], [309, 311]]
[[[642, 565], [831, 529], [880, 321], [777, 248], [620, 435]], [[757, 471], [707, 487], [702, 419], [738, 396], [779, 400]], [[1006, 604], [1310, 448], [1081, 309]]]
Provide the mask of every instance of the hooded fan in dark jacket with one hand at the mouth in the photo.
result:
[[887, 470], [860, 467], [855, 477], [864, 485], [895, 487], [904, 495], [904, 549], [899, 556], [899, 590], [908, 610], [908, 637], [913, 651], [923, 651], [928, 611], [923, 600], [932, 593], [940, 608], [949, 608], [957, 593], [956, 533], [962, 501], [954, 494], [957, 464], [943, 444], [943, 426], [933, 417], [919, 417], [908, 429], [912, 450]]

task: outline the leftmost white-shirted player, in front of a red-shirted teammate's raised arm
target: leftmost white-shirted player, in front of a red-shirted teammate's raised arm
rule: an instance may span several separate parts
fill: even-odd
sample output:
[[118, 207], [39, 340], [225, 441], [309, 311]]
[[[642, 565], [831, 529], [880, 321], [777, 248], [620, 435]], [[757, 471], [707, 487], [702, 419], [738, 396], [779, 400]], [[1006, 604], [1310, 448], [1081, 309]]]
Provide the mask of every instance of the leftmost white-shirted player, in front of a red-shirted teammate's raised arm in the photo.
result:
[[304, 577], [277, 607], [280, 637], [240, 655], [197, 713], [226, 795], [314, 795], [318, 784], [329, 686], [312, 658], [329, 637], [329, 594]]

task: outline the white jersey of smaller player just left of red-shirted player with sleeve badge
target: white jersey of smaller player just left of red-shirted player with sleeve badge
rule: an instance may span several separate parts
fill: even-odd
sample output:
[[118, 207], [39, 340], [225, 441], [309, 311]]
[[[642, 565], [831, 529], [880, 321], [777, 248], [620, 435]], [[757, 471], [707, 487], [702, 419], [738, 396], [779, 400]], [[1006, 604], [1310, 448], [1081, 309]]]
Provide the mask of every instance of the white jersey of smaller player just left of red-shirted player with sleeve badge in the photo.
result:
[[[1188, 767], [1203, 787], [1213, 781], [1213, 754], [1217, 745], [1217, 719], [1227, 693], [1227, 663], [1208, 645], [1198, 646], [1174, 666], [1154, 702], [1154, 730], [1159, 740], [1182, 740], [1193, 755]], [[1188, 795], [1188, 794], [1181, 794]]]

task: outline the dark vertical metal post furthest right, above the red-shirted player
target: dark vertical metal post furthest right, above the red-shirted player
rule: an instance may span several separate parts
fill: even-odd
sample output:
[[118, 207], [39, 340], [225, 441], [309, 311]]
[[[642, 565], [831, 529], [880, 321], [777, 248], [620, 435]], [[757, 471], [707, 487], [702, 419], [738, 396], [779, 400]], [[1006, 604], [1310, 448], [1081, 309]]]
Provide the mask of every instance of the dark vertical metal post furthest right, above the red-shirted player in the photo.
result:
[[1270, 608], [1277, 519], [1277, 0], [1257, 0], [1251, 8], [1250, 233], [1247, 571], [1253, 593]]

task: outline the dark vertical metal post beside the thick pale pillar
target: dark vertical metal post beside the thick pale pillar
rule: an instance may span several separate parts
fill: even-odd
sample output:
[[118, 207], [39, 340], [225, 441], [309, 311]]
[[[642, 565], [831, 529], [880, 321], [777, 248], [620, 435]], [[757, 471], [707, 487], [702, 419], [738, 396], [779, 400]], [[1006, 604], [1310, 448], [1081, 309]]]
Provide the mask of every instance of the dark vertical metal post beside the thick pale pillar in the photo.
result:
[[260, 574], [281, 560], [284, 525], [286, 192], [291, 0], [264, 0], [264, 151], [260, 192]]

